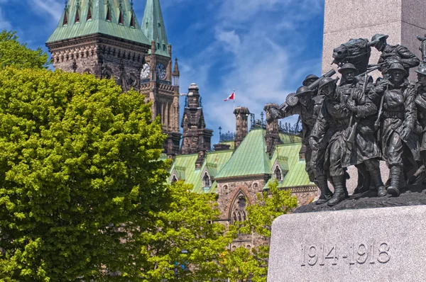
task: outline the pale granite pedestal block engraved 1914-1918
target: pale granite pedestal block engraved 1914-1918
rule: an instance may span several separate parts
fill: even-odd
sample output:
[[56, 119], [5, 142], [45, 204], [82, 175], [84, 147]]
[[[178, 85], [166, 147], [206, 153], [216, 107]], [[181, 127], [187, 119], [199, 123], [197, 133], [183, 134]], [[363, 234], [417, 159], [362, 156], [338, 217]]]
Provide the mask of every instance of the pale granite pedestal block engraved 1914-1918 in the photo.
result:
[[426, 205], [282, 215], [268, 282], [425, 281], [425, 232]]

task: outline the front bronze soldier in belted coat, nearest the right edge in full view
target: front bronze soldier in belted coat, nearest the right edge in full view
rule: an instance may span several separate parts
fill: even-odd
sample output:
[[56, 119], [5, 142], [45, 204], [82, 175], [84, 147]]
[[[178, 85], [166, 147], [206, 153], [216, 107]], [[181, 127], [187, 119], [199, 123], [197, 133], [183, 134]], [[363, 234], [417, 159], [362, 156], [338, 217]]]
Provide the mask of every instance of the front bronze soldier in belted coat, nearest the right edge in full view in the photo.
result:
[[388, 73], [388, 79], [379, 81], [372, 91], [382, 97], [378, 141], [382, 157], [391, 169], [387, 193], [399, 196], [405, 184], [403, 167], [410, 167], [420, 159], [418, 142], [412, 134], [416, 122], [415, 88], [404, 79], [407, 71], [403, 64], [391, 64]]

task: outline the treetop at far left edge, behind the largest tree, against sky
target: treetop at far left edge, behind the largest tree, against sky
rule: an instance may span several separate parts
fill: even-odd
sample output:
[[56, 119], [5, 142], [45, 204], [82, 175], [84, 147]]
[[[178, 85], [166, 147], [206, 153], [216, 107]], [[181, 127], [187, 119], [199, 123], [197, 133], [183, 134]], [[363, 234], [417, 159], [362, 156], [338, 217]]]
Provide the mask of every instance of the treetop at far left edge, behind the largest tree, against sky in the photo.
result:
[[0, 68], [13, 66], [18, 68], [42, 69], [48, 67], [48, 54], [41, 48], [29, 49], [18, 41], [16, 32], [3, 30], [0, 33]]

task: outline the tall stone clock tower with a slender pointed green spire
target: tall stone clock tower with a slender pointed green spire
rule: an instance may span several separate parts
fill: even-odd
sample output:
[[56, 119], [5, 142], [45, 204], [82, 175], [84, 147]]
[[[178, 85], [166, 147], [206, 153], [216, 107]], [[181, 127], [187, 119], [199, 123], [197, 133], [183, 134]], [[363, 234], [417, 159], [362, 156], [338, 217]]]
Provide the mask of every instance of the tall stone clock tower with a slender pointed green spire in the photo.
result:
[[[152, 102], [153, 118], [160, 115], [163, 131], [168, 135], [165, 153], [173, 157], [180, 151], [179, 67], [173, 69], [172, 45], [168, 44], [160, 0], [147, 0], [141, 22], [143, 34], [151, 42], [141, 70], [140, 91]], [[173, 69], [173, 71], [172, 71]]]

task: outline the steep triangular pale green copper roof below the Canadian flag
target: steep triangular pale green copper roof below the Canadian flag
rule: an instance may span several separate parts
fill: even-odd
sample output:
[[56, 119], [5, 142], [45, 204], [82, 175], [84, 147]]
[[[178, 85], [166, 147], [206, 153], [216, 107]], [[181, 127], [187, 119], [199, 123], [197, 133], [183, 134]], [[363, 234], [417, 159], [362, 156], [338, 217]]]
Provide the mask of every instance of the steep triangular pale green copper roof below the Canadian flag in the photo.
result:
[[236, 148], [217, 179], [233, 176], [271, 174], [271, 162], [266, 154], [265, 130], [252, 129]]

